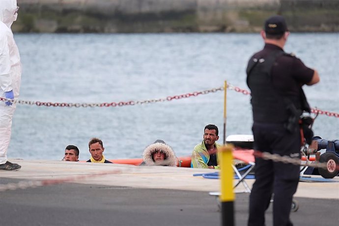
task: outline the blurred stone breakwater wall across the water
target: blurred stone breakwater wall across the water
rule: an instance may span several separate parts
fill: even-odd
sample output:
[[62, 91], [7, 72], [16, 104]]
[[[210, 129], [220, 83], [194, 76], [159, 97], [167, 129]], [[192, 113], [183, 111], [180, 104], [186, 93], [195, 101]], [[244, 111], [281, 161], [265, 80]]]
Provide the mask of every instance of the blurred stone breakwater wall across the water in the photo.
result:
[[18, 0], [17, 32], [257, 32], [273, 14], [291, 31], [338, 32], [339, 0]]

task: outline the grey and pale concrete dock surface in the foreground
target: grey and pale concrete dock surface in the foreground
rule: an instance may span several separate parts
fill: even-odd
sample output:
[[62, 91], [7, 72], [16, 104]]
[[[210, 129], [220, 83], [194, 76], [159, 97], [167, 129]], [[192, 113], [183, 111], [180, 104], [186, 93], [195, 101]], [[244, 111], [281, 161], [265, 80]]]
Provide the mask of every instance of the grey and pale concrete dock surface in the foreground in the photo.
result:
[[[208, 194], [220, 191], [220, 180], [193, 176], [217, 170], [10, 161], [22, 169], [0, 171], [0, 226], [221, 225], [217, 199]], [[46, 180], [44, 186], [27, 186]], [[254, 182], [246, 181], [250, 187]], [[235, 221], [240, 226], [248, 217], [249, 194], [244, 191], [242, 184], [235, 189]], [[332, 182], [300, 182], [295, 200], [299, 209], [291, 213], [294, 225], [339, 224], [338, 177]], [[266, 225], [272, 225], [272, 206]]]

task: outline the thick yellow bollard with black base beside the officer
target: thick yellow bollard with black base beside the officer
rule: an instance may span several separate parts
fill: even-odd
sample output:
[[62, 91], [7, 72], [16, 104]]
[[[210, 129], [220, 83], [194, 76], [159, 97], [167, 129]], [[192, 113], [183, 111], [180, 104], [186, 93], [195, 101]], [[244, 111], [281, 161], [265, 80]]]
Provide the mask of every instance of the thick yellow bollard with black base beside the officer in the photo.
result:
[[234, 226], [234, 192], [233, 192], [233, 168], [232, 168], [232, 144], [226, 144], [220, 148], [220, 178], [221, 178], [221, 214], [222, 226]]

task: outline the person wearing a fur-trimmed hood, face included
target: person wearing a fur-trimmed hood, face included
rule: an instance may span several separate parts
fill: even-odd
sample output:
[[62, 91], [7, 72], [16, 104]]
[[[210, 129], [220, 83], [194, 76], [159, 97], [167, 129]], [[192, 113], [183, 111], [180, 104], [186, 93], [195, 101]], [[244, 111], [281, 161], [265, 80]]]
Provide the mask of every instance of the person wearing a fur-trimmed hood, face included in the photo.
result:
[[177, 157], [173, 149], [162, 140], [156, 140], [148, 145], [142, 153], [143, 162], [140, 166], [176, 167]]

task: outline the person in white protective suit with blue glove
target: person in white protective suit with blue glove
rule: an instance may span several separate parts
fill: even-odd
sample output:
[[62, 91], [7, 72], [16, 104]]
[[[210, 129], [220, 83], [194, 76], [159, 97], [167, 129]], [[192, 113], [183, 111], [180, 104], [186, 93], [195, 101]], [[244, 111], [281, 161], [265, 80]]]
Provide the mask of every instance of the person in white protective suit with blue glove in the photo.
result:
[[[11, 26], [18, 16], [16, 0], [0, 0], [0, 169], [19, 170], [20, 165], [7, 161], [12, 117], [19, 96], [21, 61]], [[7, 100], [5, 100], [5, 99]]]

